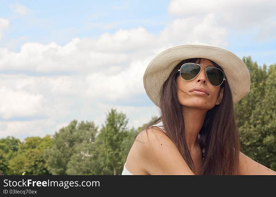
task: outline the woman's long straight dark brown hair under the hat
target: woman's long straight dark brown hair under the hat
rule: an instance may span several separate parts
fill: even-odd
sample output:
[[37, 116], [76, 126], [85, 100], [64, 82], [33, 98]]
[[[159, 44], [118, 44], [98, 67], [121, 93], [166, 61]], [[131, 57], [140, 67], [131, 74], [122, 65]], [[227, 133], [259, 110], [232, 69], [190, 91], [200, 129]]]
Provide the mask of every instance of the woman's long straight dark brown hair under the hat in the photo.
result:
[[[178, 69], [184, 63], [196, 63], [201, 58], [191, 58], [181, 61], [170, 73], [161, 89], [161, 115], [146, 126], [146, 131], [154, 124], [162, 121], [167, 136], [174, 142], [183, 159], [194, 172], [194, 163], [190, 155], [185, 137], [185, 127], [182, 106], [177, 97], [176, 78]], [[211, 60], [210, 60], [211, 61]], [[214, 67], [223, 69], [211, 61]], [[207, 111], [202, 128], [199, 131], [199, 145], [204, 149], [201, 175], [237, 175], [239, 174], [240, 139], [236, 126], [232, 93], [226, 81], [220, 86], [223, 98], [219, 105]], [[220, 95], [220, 93], [218, 94]], [[138, 134], [137, 134], [138, 135]], [[136, 139], [137, 135], [134, 139]]]

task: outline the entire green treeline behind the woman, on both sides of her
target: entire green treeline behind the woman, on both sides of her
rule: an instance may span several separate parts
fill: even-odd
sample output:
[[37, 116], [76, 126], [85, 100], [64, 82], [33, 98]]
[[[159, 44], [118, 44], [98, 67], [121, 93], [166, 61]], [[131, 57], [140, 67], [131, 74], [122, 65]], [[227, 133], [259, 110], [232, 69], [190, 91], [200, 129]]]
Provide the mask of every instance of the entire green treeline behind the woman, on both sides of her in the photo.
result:
[[[235, 104], [242, 152], [276, 170], [276, 64], [263, 68], [242, 59], [250, 72], [250, 92]], [[156, 119], [157, 117], [152, 117]], [[151, 121], [151, 120], [150, 120]], [[145, 128], [127, 127], [122, 112], [111, 109], [102, 128], [94, 122], [73, 120], [53, 137], [12, 136], [0, 139], [3, 174], [121, 174], [134, 136]]]

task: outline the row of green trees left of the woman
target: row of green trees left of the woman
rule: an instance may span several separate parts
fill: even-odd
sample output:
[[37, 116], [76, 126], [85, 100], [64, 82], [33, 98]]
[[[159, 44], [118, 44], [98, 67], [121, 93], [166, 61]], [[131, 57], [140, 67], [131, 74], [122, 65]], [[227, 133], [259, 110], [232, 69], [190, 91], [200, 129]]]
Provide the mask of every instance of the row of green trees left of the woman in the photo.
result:
[[[152, 117], [156, 119], [157, 117]], [[127, 128], [128, 119], [111, 109], [100, 129], [94, 122], [77, 120], [53, 137], [8, 136], [0, 139], [0, 172], [3, 174], [121, 174], [138, 129]]]

